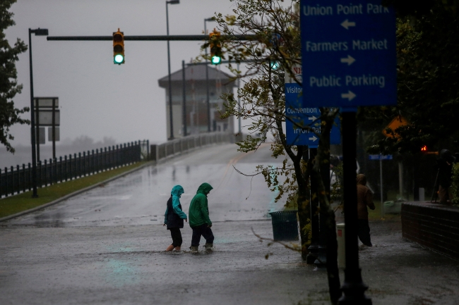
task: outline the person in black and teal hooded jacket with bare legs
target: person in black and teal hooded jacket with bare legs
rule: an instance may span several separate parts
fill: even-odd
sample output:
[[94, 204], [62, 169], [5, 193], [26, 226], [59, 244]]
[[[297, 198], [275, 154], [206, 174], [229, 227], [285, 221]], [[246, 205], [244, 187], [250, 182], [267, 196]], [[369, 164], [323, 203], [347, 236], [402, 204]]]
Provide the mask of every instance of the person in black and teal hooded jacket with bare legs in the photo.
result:
[[184, 220], [187, 220], [186, 214], [181, 210], [180, 197], [184, 193], [184, 188], [181, 185], [172, 187], [171, 196], [167, 201], [166, 213], [164, 215], [164, 225], [167, 225], [167, 230], [170, 230], [172, 244], [167, 247], [166, 251], [180, 251], [181, 247], [181, 232], [184, 228]]

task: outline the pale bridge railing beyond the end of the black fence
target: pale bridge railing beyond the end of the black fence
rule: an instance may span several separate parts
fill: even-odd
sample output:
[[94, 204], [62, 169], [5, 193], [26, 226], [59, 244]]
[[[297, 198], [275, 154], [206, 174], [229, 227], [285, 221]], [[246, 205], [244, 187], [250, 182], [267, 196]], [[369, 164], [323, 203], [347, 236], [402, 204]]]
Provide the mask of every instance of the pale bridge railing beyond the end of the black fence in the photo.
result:
[[160, 161], [209, 144], [234, 143], [234, 135], [224, 132], [210, 132], [174, 139], [162, 144], [150, 145], [150, 160]]

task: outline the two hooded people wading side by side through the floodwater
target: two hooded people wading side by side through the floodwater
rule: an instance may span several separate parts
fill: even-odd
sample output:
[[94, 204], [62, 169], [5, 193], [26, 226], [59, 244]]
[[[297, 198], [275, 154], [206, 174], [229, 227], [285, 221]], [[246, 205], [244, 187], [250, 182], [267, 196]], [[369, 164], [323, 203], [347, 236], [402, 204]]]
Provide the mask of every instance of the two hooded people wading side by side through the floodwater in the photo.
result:
[[[189, 208], [189, 224], [193, 230], [191, 238], [191, 252], [197, 253], [201, 236], [205, 238], [204, 248], [206, 251], [213, 250], [213, 232], [210, 229], [212, 222], [209, 218], [209, 208], [207, 195], [213, 189], [208, 183], [203, 183], [198, 187], [196, 195], [191, 200]], [[180, 229], [184, 228], [184, 220], [188, 218], [181, 209], [180, 197], [184, 194], [184, 188], [176, 185], [172, 188], [171, 197], [167, 201], [164, 225], [167, 225], [167, 230], [170, 230], [172, 244], [167, 247], [166, 251], [180, 251], [182, 239]]]

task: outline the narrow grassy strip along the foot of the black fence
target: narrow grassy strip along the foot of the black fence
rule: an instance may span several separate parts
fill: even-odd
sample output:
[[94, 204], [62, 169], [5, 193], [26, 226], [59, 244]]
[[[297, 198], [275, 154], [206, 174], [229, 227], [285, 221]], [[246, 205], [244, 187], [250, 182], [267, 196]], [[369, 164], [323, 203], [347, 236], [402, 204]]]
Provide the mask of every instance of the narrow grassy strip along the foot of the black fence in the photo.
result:
[[130, 166], [107, 170], [102, 173], [78, 178], [76, 180], [57, 183], [56, 185], [48, 187], [39, 187], [37, 190], [38, 198], [32, 198], [32, 192], [30, 191], [0, 199], [0, 218], [25, 211], [30, 208], [35, 208], [37, 206], [42, 206], [43, 204], [47, 204], [51, 201], [76, 192], [79, 189], [90, 187], [91, 185], [95, 185], [116, 175], [125, 173], [133, 168], [138, 168], [143, 164], [145, 164], [145, 162], [138, 162], [131, 164]]

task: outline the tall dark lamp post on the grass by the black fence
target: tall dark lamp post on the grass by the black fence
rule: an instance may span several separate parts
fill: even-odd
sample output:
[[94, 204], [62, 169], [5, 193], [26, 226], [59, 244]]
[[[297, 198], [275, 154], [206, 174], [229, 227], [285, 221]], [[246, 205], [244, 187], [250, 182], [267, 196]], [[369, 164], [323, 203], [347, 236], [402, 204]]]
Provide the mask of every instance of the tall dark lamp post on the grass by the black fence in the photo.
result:
[[30, 136], [32, 137], [32, 198], [37, 198], [37, 151], [35, 150], [35, 107], [33, 105], [32, 33], [34, 33], [35, 36], [47, 36], [48, 30], [40, 29], [40, 27], [35, 30], [29, 28]]

